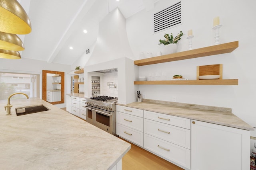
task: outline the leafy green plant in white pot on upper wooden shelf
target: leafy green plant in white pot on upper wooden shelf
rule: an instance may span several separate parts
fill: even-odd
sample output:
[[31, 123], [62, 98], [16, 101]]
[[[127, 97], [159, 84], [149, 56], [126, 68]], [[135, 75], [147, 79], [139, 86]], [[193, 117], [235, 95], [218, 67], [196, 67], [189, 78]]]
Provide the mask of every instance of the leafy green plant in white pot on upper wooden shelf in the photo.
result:
[[170, 54], [170, 53], [176, 53], [177, 50], [177, 43], [178, 41], [181, 39], [182, 35], [184, 35], [184, 33], [182, 33], [182, 31], [180, 31], [180, 33], [178, 33], [176, 35], [176, 37], [173, 37], [172, 33], [169, 34], [164, 34], [164, 38], [165, 39], [160, 39], [159, 40], [159, 44], [158, 45], [165, 45], [164, 46], [164, 54]]

